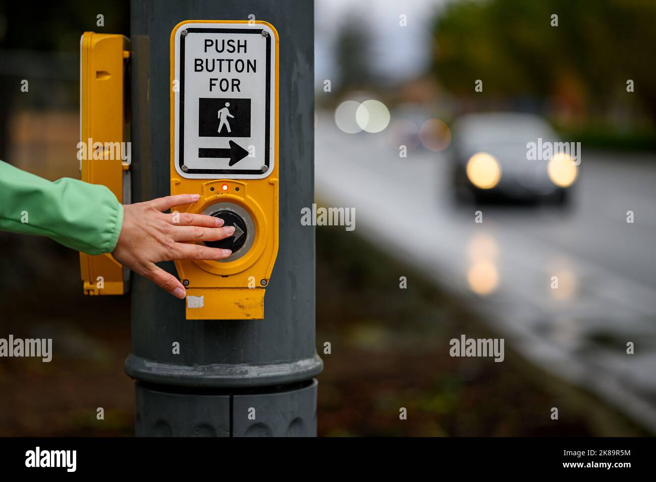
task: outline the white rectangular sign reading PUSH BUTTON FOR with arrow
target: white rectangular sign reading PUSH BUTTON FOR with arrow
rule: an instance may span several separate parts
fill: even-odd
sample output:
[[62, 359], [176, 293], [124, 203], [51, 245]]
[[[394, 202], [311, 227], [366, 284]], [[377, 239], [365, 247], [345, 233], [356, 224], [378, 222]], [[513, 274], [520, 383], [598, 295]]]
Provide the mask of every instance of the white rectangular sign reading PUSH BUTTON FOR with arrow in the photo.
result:
[[173, 109], [174, 165], [180, 176], [259, 179], [272, 172], [276, 68], [274, 32], [266, 25], [178, 27]]

